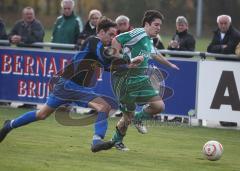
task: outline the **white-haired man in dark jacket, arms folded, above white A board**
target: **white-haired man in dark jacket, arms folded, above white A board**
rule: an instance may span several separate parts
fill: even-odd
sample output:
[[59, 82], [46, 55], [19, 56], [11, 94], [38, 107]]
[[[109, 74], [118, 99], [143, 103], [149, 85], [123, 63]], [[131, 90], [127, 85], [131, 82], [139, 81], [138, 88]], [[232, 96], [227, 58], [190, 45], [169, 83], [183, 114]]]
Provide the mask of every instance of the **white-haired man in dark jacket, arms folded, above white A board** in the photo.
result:
[[232, 26], [232, 19], [229, 15], [217, 17], [218, 28], [213, 32], [212, 42], [207, 51], [220, 54], [234, 54], [237, 44], [240, 41], [240, 32]]

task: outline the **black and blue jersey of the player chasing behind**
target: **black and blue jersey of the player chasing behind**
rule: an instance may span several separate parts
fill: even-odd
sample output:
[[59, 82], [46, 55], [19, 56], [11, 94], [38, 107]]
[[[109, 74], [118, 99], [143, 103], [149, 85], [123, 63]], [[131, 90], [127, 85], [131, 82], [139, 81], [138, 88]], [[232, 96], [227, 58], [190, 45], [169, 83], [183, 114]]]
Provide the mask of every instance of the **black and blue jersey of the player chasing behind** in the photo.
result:
[[102, 41], [92, 36], [88, 38], [81, 51], [77, 53], [71, 64], [64, 71], [65, 79], [70, 79], [76, 84], [84, 87], [94, 87], [97, 83], [100, 68], [109, 68], [111, 60], [104, 55]]

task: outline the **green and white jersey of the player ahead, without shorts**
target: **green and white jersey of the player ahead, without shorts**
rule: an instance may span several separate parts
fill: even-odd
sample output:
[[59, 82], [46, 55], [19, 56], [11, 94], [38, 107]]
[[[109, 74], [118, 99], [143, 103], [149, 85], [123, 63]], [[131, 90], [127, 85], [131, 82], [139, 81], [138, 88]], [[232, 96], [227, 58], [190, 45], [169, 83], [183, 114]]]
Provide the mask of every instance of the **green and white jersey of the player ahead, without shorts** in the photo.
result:
[[147, 67], [150, 53], [154, 52], [153, 40], [147, 35], [144, 28], [136, 28], [129, 32], [122, 33], [116, 37], [123, 47], [124, 56], [133, 59], [142, 55], [144, 61], [139, 67]]

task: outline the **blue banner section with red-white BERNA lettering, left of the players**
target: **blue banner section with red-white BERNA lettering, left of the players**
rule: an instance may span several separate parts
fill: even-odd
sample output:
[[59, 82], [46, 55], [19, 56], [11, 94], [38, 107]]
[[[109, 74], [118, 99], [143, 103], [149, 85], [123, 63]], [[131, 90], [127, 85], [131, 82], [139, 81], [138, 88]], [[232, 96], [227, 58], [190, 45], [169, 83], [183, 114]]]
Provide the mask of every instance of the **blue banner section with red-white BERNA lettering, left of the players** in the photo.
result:
[[49, 78], [67, 65], [73, 53], [0, 48], [0, 99], [44, 103]]

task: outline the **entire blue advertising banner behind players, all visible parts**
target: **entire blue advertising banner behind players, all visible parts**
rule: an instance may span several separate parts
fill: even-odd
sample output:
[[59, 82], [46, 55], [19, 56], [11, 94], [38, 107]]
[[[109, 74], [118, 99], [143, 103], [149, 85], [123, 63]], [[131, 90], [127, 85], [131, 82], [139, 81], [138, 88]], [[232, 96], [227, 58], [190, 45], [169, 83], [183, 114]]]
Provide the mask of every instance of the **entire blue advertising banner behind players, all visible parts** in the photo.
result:
[[[44, 103], [49, 94], [49, 79], [63, 69], [75, 53], [0, 47], [0, 100]], [[190, 109], [195, 109], [197, 61], [172, 62], [180, 67], [179, 71], [151, 62], [164, 73], [164, 113], [187, 115]], [[103, 71], [96, 91], [113, 97], [110, 79], [110, 73]]]

